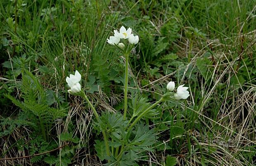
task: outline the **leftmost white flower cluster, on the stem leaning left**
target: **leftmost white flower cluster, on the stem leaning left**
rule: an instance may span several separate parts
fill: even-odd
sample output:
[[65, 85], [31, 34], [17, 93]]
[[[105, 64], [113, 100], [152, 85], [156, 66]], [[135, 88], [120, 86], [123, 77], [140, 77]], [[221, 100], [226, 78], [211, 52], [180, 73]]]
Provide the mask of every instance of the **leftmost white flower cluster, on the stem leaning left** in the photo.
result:
[[69, 93], [78, 93], [81, 91], [81, 85], [79, 81], [81, 81], [81, 74], [77, 70], [75, 75], [70, 74], [69, 77], [66, 77], [66, 83], [68, 83], [70, 88], [70, 90], [68, 90]]

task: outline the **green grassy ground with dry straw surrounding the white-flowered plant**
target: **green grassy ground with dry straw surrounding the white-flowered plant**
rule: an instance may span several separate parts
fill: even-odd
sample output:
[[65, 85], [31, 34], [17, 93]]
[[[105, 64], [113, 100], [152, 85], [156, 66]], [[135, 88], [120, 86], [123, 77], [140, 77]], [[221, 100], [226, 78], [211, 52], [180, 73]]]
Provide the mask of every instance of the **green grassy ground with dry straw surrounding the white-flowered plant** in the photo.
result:
[[154, 103], [168, 81], [190, 91], [187, 100], [165, 102], [159, 115], [141, 120], [158, 138], [135, 157], [137, 165], [255, 165], [255, 4], [1, 2], [0, 165], [107, 163], [97, 150], [104, 144], [95, 117], [81, 97], [66, 92], [65, 78], [81, 73], [100, 115], [123, 112], [125, 62], [106, 42], [122, 25], [140, 37], [130, 55], [128, 119], [135, 92]]

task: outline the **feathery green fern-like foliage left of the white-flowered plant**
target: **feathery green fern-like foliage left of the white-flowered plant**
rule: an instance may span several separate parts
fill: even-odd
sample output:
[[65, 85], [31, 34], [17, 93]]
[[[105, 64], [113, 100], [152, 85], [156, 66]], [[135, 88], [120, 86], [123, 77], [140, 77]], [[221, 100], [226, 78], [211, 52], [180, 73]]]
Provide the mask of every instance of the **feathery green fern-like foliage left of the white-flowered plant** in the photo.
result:
[[31, 125], [31, 127], [33, 127], [35, 131], [41, 131], [45, 140], [49, 140], [50, 133], [46, 133], [45, 131], [50, 131], [56, 119], [66, 116], [66, 109], [62, 108], [62, 106], [59, 106], [59, 108], [50, 107], [45, 90], [43, 90], [38, 79], [26, 70], [22, 75], [21, 98], [23, 101], [17, 100], [11, 95], [6, 95], [6, 97], [11, 99], [22, 111], [35, 115], [32, 120], [27, 120], [36, 124], [36, 127], [34, 125]]

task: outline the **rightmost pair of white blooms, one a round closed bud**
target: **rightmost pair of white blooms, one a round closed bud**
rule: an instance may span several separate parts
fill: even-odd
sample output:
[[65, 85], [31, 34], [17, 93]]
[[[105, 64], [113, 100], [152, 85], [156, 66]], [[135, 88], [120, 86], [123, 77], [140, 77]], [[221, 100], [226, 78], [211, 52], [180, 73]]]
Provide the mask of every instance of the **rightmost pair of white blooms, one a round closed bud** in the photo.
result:
[[[179, 100], [179, 99], [187, 99], [187, 97], [189, 97], [189, 92], [187, 91], [188, 87], [183, 87], [184, 85], [180, 85], [177, 88], [177, 93], [174, 94], [174, 98]], [[166, 89], [169, 91], [173, 91], [175, 88], [175, 83], [173, 81], [170, 81], [167, 86]]]

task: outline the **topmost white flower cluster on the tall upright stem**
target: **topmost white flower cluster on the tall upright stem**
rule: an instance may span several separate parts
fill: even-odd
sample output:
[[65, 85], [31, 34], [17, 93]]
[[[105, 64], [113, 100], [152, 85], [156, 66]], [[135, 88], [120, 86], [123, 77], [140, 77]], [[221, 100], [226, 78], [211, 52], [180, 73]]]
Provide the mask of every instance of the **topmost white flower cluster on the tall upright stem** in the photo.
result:
[[139, 37], [132, 34], [132, 29], [126, 28], [122, 26], [118, 32], [118, 30], [114, 30], [114, 36], [109, 37], [107, 42], [111, 45], [118, 45], [120, 48], [124, 48], [123, 43], [119, 43], [120, 39], [128, 39], [130, 44], [137, 44], [139, 42]]

